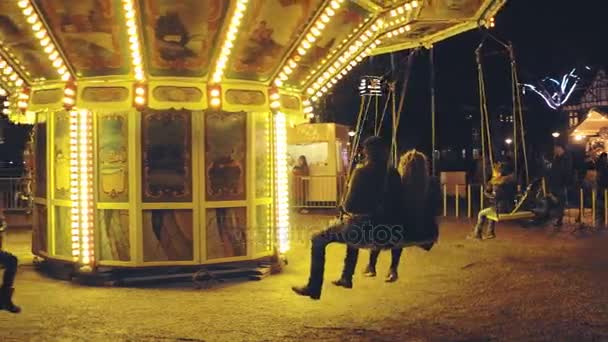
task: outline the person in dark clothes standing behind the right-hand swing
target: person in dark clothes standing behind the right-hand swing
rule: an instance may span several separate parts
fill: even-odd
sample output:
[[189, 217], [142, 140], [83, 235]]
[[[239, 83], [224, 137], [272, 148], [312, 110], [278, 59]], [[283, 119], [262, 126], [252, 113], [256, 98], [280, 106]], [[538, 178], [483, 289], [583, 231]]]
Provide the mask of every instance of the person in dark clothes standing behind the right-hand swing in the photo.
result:
[[549, 170], [549, 192], [551, 193], [556, 205], [556, 220], [555, 226], [559, 227], [563, 224], [564, 208], [566, 205], [566, 189], [573, 181], [574, 167], [572, 165], [572, 157], [566, 151], [566, 147], [557, 143], [553, 148], [553, 163]]

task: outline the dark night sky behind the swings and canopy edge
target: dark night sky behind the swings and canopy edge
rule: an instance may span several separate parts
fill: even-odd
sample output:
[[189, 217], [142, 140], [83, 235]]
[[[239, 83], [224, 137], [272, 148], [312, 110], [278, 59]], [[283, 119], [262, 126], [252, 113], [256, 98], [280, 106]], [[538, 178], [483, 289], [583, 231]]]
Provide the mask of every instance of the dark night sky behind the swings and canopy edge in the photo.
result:
[[[585, 5], [565, 0], [510, 0], [496, 17], [496, 27], [490, 32], [504, 42], [512, 42], [522, 83], [561, 76], [572, 68], [582, 69], [585, 65], [597, 70], [608, 64], [608, 28], [604, 24], [607, 5], [602, 0], [585, 1]], [[469, 145], [469, 132], [474, 125], [479, 125], [475, 49], [482, 36], [482, 31], [474, 30], [435, 45], [438, 148]], [[483, 51], [490, 115], [510, 114], [508, 57], [496, 54], [504, 50], [491, 41]], [[408, 54], [409, 51], [393, 53], [399, 80], [403, 78]], [[430, 152], [429, 70], [428, 51], [421, 50], [414, 61], [406, 95], [400, 149], [416, 147]], [[347, 80], [336, 85], [326, 107], [330, 116], [352, 124], [359, 108], [356, 90], [359, 77], [390, 71], [390, 55], [376, 56], [357, 67]], [[592, 76], [586, 75], [587, 79]], [[540, 97], [530, 92], [523, 97], [523, 102], [528, 140], [550, 148], [550, 134], [558, 128], [560, 116], [565, 120], [564, 116], [549, 110]], [[472, 119], [466, 120], [467, 116]], [[496, 134], [499, 134], [498, 129]]]

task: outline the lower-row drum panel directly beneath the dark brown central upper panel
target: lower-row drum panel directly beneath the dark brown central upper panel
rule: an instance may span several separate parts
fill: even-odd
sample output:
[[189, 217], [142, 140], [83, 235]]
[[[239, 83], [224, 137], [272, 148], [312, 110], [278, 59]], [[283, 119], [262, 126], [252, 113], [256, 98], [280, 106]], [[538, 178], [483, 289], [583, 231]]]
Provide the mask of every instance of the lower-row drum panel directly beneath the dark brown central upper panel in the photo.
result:
[[192, 210], [144, 210], [144, 261], [187, 261], [194, 256]]

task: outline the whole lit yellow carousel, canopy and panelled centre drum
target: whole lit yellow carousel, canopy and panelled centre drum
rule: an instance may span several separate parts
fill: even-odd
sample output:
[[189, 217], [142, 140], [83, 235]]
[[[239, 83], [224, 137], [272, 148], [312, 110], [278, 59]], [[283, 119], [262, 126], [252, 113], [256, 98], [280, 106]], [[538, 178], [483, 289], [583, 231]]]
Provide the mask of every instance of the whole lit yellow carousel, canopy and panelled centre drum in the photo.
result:
[[366, 56], [505, 1], [0, 2], [3, 112], [34, 127], [33, 253], [77, 274], [279, 260], [287, 128]]

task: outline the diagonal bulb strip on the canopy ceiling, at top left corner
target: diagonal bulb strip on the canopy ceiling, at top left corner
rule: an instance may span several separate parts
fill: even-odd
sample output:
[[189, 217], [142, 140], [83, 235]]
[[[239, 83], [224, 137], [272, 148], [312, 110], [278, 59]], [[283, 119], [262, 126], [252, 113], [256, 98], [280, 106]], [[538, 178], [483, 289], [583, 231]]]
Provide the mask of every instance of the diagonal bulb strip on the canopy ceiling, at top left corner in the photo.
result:
[[61, 76], [62, 81], [67, 81], [72, 78], [72, 75], [68, 71], [66, 67], [66, 63], [63, 58], [59, 54], [55, 43], [49, 36], [46, 28], [44, 27], [38, 13], [30, 3], [30, 0], [20, 0], [17, 2], [17, 5], [21, 9], [21, 13], [25, 16], [26, 21], [31, 25], [32, 31], [34, 31], [34, 35], [38, 39], [40, 46], [47, 54], [47, 57], [51, 61], [53, 67]]

